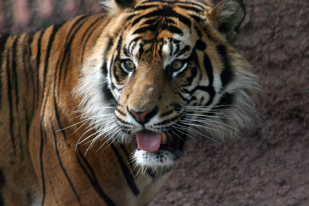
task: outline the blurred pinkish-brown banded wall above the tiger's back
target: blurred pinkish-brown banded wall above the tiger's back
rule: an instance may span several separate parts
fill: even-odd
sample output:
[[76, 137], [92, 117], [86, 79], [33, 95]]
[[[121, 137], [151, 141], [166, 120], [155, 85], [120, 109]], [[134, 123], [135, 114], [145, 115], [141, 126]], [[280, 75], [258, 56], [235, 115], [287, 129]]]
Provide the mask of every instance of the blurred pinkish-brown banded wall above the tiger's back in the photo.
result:
[[33, 32], [79, 14], [101, 11], [99, 0], [0, 0], [0, 32]]

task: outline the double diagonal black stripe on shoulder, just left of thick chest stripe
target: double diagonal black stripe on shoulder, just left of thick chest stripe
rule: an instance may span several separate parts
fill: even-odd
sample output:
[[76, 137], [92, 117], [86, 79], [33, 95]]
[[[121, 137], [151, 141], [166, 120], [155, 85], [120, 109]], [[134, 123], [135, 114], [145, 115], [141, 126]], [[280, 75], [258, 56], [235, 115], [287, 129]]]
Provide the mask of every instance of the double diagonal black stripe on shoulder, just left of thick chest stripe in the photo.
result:
[[[90, 164], [87, 162], [87, 160], [84, 158], [83, 154], [80, 152], [80, 149], [78, 147], [78, 153], [79, 156], [81, 158], [79, 158], [77, 155], [77, 161], [79, 163], [79, 165], [82, 167], [82, 169], [84, 170], [85, 174], [88, 176], [93, 188], [95, 189], [95, 191], [100, 195], [100, 197], [106, 202], [106, 204], [108, 204], [109, 206], [114, 206], [115, 203], [113, 203], [113, 201], [105, 194], [105, 192], [103, 191], [102, 187], [99, 185], [99, 182], [95, 176], [95, 173], [93, 171], [93, 169], [91, 168]], [[86, 170], [86, 168], [83, 166], [83, 162], [86, 164], [87, 169], [90, 171], [90, 174], [88, 173], [88, 171]], [[116, 205], [115, 205], [116, 206]]]

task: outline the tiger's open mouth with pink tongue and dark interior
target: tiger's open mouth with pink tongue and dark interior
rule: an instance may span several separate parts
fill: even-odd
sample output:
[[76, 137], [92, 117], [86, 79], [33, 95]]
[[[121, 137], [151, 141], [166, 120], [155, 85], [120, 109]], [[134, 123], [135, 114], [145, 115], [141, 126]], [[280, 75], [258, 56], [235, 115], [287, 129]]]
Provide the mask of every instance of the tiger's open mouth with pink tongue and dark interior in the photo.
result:
[[182, 154], [186, 135], [181, 132], [169, 132], [174, 135], [143, 129], [136, 132], [138, 149], [147, 152], [167, 150], [176, 156]]

